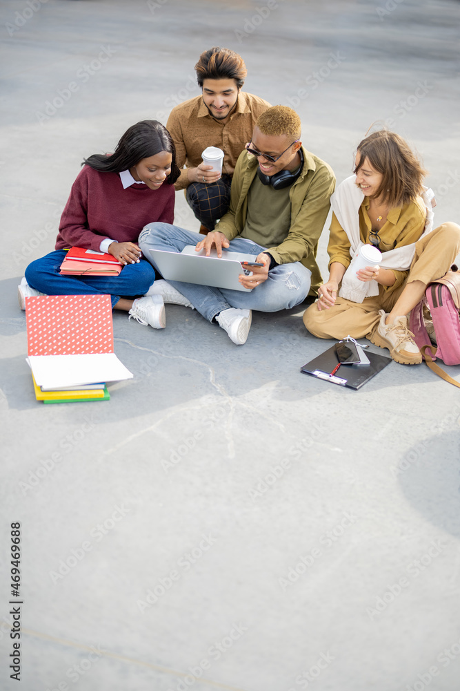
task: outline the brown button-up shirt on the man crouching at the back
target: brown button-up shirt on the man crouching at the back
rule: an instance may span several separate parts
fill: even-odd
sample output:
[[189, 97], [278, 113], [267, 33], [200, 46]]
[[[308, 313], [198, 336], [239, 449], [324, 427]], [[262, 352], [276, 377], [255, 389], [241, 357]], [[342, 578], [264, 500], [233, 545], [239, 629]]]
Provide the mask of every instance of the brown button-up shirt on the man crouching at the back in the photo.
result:
[[237, 106], [230, 120], [223, 124], [209, 114], [202, 96], [196, 96], [172, 108], [166, 129], [176, 146], [177, 165], [181, 170], [174, 187], [185, 189], [190, 184], [187, 168], [196, 168], [203, 162], [201, 153], [208, 146], [217, 146], [223, 151], [222, 173], [233, 175], [238, 156], [246, 142], [250, 142], [252, 131], [261, 113], [270, 104], [259, 96], [240, 91]]

